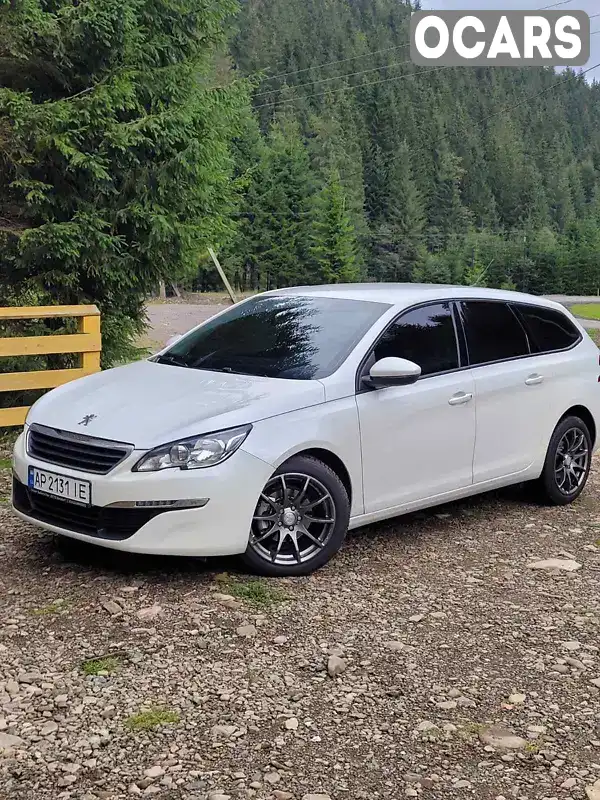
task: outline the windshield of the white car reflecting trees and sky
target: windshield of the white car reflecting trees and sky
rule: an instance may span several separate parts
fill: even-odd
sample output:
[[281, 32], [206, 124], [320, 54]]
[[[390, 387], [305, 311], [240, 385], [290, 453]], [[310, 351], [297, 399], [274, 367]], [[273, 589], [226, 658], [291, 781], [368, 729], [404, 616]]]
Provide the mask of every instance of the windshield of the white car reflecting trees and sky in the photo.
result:
[[388, 308], [341, 298], [256, 297], [191, 331], [153, 360], [268, 378], [325, 378]]

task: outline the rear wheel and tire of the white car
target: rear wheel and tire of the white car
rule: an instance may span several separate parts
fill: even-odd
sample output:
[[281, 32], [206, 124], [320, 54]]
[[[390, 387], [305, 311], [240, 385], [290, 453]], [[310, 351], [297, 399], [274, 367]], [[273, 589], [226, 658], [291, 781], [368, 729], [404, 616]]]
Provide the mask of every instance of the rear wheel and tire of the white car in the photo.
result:
[[536, 483], [542, 502], [564, 506], [579, 497], [590, 472], [592, 447], [589, 428], [580, 417], [568, 416], [558, 423]]

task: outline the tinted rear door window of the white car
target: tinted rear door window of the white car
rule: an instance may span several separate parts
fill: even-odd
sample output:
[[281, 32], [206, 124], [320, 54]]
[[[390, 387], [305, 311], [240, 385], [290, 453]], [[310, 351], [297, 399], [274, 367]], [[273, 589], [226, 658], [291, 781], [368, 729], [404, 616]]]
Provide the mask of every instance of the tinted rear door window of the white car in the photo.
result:
[[529, 353], [527, 334], [506, 303], [461, 303], [471, 364], [487, 364]]

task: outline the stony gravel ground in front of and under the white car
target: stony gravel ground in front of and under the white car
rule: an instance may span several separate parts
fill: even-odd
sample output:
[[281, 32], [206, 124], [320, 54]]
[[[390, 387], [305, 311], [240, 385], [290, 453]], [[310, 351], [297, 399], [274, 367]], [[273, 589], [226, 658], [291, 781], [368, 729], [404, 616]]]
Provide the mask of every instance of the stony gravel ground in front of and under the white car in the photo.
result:
[[0, 505], [0, 798], [598, 800], [599, 484], [379, 524], [279, 581]]

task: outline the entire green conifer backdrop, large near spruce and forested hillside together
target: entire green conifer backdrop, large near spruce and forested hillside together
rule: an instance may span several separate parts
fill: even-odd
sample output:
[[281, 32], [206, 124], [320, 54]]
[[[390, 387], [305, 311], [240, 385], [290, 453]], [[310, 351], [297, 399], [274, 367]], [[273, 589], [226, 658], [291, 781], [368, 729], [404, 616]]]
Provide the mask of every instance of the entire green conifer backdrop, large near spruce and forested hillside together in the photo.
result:
[[209, 246], [243, 290], [595, 294], [600, 84], [416, 67], [413, 7], [0, 0], [0, 305], [98, 304], [108, 366]]

